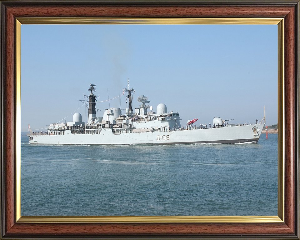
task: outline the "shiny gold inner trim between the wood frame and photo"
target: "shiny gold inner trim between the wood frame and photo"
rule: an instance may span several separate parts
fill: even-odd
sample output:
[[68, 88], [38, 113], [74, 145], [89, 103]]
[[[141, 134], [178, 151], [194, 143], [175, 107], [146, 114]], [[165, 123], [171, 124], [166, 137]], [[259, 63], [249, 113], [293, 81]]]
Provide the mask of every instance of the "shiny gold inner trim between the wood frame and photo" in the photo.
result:
[[[21, 25], [22, 24], [272, 24], [278, 25], [278, 216], [21, 216]], [[283, 18], [16, 18], [16, 222], [284, 222], [284, 19]]]

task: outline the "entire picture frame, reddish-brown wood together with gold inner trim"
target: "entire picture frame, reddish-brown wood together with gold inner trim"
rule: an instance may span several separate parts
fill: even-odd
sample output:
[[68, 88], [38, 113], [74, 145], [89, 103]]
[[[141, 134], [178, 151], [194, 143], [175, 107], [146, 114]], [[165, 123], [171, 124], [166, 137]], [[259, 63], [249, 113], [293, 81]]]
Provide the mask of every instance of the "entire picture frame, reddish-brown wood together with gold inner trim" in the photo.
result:
[[[299, 1], [276, 1], [274, 3], [247, 1], [0, 2], [2, 238], [254, 239], [259, 237], [299, 239], [300, 229], [299, 221], [297, 221], [299, 219], [299, 21], [297, 20]], [[112, 213], [113, 216], [106, 214], [107, 216], [99, 217], [89, 216], [86, 213], [76, 217], [56, 217], [55, 214], [45, 217], [42, 216], [45, 214], [39, 214], [38, 210], [35, 216], [22, 216], [20, 201], [21, 25], [29, 24], [39, 25], [39, 29], [62, 24], [77, 26], [82, 24], [91, 26], [95, 24], [134, 26], [272, 24], [277, 26], [278, 53], [275, 56], [278, 58], [277, 216], [198, 216], [198, 212], [190, 212], [188, 215], [191, 216], [185, 216], [184, 213], [178, 214], [179, 216], [151, 217], [120, 213], [121, 216], [118, 216]], [[192, 40], [192, 36], [187, 38]], [[35, 40], [38, 41], [38, 38], [32, 38], [32, 41]], [[120, 48], [116, 51], [122, 50]], [[187, 87], [192, 88], [192, 86], [192, 84], [191, 86], [187, 84]], [[56, 88], [49, 89], [55, 91]]]

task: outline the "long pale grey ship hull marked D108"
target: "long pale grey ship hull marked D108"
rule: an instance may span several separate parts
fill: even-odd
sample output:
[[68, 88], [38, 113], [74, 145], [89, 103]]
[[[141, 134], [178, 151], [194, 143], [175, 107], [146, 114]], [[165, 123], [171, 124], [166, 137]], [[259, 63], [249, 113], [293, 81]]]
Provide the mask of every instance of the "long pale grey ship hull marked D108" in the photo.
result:
[[140, 132], [114, 134], [112, 129], [101, 129], [98, 134], [28, 135], [30, 144], [192, 144], [258, 142], [264, 124], [224, 128], [193, 129], [168, 132]]

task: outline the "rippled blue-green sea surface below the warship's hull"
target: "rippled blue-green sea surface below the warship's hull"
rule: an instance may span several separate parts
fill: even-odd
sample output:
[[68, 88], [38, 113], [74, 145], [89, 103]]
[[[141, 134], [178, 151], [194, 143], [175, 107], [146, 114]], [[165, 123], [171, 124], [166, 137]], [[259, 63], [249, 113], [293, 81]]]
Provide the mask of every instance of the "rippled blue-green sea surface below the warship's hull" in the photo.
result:
[[22, 216], [277, 216], [277, 134], [258, 143], [30, 145]]

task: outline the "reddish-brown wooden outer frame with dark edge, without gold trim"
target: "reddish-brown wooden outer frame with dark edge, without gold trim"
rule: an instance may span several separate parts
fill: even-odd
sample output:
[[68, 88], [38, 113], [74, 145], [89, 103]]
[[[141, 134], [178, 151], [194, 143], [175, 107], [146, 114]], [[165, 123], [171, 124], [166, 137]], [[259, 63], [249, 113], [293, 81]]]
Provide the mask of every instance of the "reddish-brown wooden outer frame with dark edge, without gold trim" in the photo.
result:
[[[1, 239], [300, 239], [299, 0], [83, 1], [0, 0]], [[15, 213], [17, 17], [283, 17], [283, 223], [18, 223]]]

